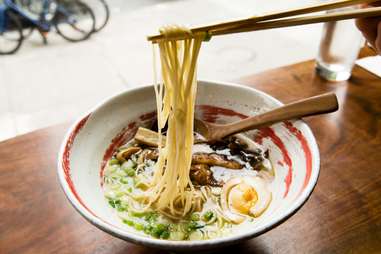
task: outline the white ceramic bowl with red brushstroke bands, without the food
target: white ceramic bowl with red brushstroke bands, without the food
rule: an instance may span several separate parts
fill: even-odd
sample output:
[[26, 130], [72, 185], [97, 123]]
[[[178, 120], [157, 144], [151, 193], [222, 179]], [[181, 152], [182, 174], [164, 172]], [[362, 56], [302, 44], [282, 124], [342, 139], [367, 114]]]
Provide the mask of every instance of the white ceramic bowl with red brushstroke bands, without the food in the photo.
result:
[[[235, 121], [282, 105], [258, 90], [235, 84], [199, 81], [198, 117]], [[79, 119], [68, 131], [58, 155], [58, 176], [74, 208], [100, 229], [122, 239], [168, 250], [222, 247], [260, 235], [294, 214], [308, 199], [319, 175], [319, 151], [310, 128], [301, 120], [251, 133], [270, 151], [276, 171], [273, 201], [253, 227], [228, 237], [204, 241], [168, 241], [138, 234], [108, 206], [101, 187], [101, 168], [114, 149], [133, 137], [155, 114], [152, 86], [111, 97]]]

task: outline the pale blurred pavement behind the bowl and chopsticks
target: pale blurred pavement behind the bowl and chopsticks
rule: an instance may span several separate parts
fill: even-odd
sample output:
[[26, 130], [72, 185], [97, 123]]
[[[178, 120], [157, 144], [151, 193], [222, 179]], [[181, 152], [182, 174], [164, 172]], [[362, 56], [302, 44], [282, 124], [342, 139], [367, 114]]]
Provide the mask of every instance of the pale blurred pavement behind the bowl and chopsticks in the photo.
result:
[[[93, 1], [85, 2], [91, 6]], [[15, 54], [0, 56], [0, 140], [71, 121], [115, 93], [151, 84], [152, 49], [146, 36], [164, 24], [202, 25], [318, 2], [106, 1], [109, 22], [89, 39], [70, 43], [51, 32], [45, 45], [35, 31]], [[201, 50], [198, 78], [234, 81], [315, 58], [321, 28], [317, 24], [212, 38]]]

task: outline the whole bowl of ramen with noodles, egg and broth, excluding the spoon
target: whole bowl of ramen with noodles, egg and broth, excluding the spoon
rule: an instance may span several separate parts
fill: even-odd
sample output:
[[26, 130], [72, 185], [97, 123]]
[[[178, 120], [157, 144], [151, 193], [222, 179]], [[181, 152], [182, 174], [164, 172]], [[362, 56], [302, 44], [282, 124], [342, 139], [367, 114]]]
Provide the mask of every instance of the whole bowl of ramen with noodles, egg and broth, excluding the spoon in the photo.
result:
[[68, 131], [58, 158], [60, 184], [92, 224], [145, 246], [211, 249], [258, 236], [307, 201], [319, 151], [302, 120], [213, 143], [193, 132], [193, 115], [229, 123], [281, 102], [249, 87], [198, 81], [195, 106], [171, 114], [155, 100], [160, 93], [153, 86], [125, 91]]

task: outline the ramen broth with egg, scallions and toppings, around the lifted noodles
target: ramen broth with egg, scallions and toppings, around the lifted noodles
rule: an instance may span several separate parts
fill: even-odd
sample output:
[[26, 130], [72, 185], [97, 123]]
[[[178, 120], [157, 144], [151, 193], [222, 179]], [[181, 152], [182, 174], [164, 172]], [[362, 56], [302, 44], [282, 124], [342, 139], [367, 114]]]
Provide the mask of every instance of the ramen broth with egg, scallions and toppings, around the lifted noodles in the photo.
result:
[[123, 223], [145, 235], [169, 240], [226, 236], [255, 222], [271, 202], [268, 185], [274, 170], [268, 151], [244, 134], [214, 144], [194, 144], [190, 179], [196, 198], [180, 218], [156, 210], [145, 198], [157, 159], [157, 147], [135, 138], [114, 153], [104, 172], [110, 207]]

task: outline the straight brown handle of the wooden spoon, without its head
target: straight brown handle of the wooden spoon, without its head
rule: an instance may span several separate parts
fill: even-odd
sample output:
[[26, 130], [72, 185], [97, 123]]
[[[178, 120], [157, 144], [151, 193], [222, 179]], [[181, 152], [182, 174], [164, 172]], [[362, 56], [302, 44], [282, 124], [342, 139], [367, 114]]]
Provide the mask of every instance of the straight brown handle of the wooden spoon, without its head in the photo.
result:
[[322, 94], [284, 105], [242, 121], [224, 125], [218, 136], [226, 137], [238, 132], [269, 126], [276, 122], [330, 113], [338, 108], [337, 97], [334, 93]]

